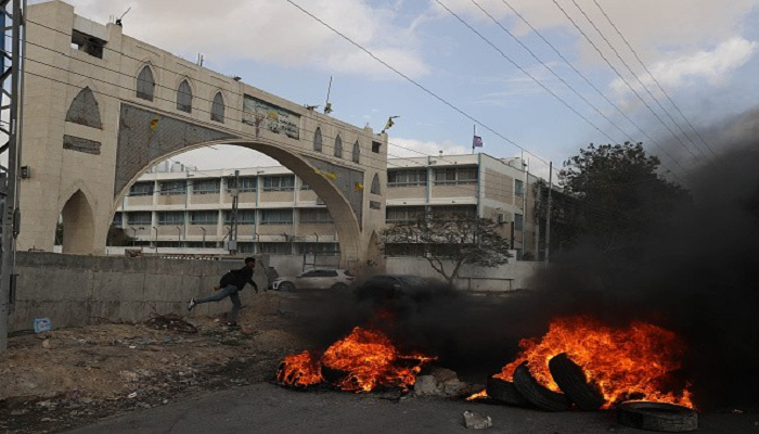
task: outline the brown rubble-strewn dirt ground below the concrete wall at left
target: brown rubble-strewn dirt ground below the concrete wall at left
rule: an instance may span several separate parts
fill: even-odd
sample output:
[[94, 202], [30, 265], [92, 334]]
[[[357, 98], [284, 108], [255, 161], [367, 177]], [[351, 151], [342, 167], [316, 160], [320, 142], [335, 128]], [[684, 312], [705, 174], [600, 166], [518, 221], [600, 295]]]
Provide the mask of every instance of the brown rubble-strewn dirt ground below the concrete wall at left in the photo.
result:
[[280, 302], [276, 293], [256, 295], [240, 328], [223, 315], [155, 312], [140, 324], [11, 336], [0, 355], [0, 432], [56, 432], [273, 379], [280, 359], [304, 348]]

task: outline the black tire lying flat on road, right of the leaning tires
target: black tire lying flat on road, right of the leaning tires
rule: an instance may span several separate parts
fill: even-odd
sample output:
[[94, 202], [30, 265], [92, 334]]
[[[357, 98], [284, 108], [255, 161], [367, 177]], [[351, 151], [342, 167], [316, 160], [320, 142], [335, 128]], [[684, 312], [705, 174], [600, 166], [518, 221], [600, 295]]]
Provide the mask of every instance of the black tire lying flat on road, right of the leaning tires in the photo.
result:
[[665, 433], [685, 433], [698, 429], [698, 414], [694, 410], [665, 403], [622, 403], [617, 421], [639, 430]]

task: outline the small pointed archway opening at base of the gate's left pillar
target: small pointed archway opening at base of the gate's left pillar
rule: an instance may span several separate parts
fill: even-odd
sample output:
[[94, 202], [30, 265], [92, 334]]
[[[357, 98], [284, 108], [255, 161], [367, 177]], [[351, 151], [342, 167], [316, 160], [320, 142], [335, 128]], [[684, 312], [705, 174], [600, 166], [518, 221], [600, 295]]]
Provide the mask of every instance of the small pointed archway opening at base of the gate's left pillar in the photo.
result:
[[61, 209], [63, 218], [63, 253], [89, 254], [94, 245], [92, 206], [81, 190], [77, 190]]

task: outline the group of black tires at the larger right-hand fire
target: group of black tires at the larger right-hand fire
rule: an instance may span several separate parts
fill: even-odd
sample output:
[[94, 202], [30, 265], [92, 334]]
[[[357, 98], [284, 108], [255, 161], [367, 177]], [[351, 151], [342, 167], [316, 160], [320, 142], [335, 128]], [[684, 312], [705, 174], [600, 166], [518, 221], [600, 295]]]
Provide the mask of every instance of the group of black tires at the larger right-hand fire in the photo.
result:
[[[549, 369], [561, 393], [541, 385], [525, 361], [514, 371], [513, 382], [490, 376], [486, 390], [488, 397], [512, 406], [545, 411], [567, 411], [573, 407], [593, 411], [606, 404], [599, 387], [588, 381], [582, 368], [566, 353], [551, 358]], [[672, 433], [698, 427], [698, 414], [693, 409], [673, 404], [627, 401], [619, 404], [617, 411], [619, 423], [631, 427]]]

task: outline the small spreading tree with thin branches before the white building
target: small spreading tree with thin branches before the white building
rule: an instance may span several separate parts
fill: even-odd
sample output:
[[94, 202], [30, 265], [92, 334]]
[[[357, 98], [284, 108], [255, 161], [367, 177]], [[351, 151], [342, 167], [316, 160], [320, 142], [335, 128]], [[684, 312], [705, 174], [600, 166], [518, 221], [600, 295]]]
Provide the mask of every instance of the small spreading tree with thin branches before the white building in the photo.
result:
[[424, 257], [451, 284], [464, 264], [497, 267], [511, 257], [498, 224], [466, 213], [424, 213], [383, 229], [380, 238], [386, 254]]

